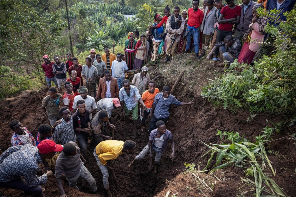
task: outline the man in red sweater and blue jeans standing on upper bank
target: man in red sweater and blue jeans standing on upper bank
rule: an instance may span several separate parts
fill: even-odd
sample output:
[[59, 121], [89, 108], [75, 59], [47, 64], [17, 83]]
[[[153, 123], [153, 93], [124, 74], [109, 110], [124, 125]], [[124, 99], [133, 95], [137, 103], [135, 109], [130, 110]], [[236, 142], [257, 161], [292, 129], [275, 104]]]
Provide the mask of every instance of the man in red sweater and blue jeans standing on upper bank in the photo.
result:
[[189, 47], [191, 43], [191, 36], [193, 37], [194, 43], [194, 52], [197, 61], [200, 61], [198, 57], [199, 52], [199, 39], [200, 39], [200, 31], [199, 28], [202, 24], [202, 19], [204, 17], [203, 12], [198, 9], [198, 5], [200, 4], [200, 0], [192, 1], [192, 8], [188, 9], [188, 34], [186, 36], [186, 53], [190, 53]]

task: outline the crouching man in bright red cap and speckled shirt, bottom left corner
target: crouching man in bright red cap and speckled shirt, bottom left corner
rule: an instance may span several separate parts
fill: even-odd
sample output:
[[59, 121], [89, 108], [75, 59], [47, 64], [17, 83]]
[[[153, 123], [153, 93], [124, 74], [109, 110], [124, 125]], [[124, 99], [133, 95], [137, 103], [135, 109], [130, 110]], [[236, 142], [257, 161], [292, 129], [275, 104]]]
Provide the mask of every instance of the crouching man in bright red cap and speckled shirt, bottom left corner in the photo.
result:
[[[0, 157], [0, 187], [12, 188], [32, 193], [34, 196], [44, 197], [41, 185], [52, 176], [52, 171], [46, 171], [41, 176], [39, 164], [45, 159], [51, 159], [55, 152], [62, 151], [63, 146], [46, 139], [38, 146], [25, 144], [9, 147]], [[17, 161], [17, 165], [16, 165]], [[17, 193], [13, 196], [18, 196]]]

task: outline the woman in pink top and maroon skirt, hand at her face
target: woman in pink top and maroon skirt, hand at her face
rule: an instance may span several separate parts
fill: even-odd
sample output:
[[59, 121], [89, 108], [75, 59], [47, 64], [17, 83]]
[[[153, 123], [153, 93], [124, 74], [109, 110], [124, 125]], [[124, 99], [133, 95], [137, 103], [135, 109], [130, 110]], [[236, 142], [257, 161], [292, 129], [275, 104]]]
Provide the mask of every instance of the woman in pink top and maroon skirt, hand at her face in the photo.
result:
[[258, 51], [260, 45], [263, 43], [268, 17], [258, 17], [257, 9], [259, 8], [264, 9], [262, 4], [256, 4], [252, 8], [253, 18], [249, 25], [249, 29], [242, 38], [244, 45], [242, 46], [242, 50], [237, 59], [239, 63], [244, 62], [250, 64], [256, 51]]

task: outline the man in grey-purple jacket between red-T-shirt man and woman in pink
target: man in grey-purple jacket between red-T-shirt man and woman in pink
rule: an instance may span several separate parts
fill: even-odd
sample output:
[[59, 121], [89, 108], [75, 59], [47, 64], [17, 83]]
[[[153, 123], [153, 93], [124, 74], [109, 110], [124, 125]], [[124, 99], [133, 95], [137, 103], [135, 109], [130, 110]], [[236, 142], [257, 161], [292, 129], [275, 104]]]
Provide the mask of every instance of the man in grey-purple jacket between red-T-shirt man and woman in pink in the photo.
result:
[[240, 40], [249, 29], [249, 24], [253, 18], [252, 7], [256, 4], [257, 3], [252, 0], [242, 0], [242, 4], [239, 5], [242, 8], [241, 17], [239, 19], [239, 24], [234, 26], [233, 39]]

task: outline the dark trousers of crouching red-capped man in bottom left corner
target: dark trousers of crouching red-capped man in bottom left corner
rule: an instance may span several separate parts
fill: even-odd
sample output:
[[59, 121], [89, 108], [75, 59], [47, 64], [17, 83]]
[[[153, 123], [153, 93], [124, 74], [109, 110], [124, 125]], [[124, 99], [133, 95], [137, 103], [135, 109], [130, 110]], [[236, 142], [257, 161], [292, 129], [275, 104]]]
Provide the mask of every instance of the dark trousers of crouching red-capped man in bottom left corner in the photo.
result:
[[0, 187], [1, 188], [12, 188], [16, 190], [22, 190], [25, 192], [30, 192], [34, 196], [41, 196], [44, 197], [44, 194], [42, 193], [42, 187], [41, 185], [36, 185], [35, 187], [28, 187], [26, 184], [26, 181], [24, 178], [16, 179], [16, 180], [11, 180], [8, 182], [0, 182]]

